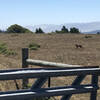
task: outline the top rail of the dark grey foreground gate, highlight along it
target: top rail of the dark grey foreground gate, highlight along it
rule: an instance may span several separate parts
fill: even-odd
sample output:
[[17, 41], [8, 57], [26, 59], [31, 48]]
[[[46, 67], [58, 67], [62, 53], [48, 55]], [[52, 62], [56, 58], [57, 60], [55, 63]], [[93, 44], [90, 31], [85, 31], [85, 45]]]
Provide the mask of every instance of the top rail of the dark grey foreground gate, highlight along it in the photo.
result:
[[57, 77], [57, 76], [75, 76], [75, 75], [93, 75], [100, 74], [100, 68], [77, 68], [77, 69], [19, 69], [15, 71], [8, 70], [0, 73], [0, 80], [39, 78], [39, 77]]

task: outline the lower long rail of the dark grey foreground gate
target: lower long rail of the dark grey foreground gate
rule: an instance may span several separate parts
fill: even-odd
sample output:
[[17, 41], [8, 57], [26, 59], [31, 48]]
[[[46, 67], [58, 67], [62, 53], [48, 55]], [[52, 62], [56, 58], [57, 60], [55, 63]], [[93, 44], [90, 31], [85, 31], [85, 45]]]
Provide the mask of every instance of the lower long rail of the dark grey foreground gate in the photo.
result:
[[57, 88], [45, 88], [36, 90], [21, 90], [21, 91], [10, 91], [1, 92], [0, 100], [29, 100], [34, 97], [50, 97], [50, 96], [62, 96], [69, 94], [78, 93], [91, 93], [96, 91], [98, 87], [92, 85], [80, 85], [80, 86], [68, 86], [68, 87], [57, 87]]

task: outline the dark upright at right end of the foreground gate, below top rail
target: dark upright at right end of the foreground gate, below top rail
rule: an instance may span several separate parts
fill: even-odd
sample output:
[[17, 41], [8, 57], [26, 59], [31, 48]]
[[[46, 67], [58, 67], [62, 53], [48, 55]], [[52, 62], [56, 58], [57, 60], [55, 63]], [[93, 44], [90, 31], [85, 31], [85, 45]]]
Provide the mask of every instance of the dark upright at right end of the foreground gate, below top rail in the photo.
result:
[[[92, 75], [92, 85], [98, 87], [98, 75]], [[91, 92], [90, 100], [97, 100], [97, 90]]]

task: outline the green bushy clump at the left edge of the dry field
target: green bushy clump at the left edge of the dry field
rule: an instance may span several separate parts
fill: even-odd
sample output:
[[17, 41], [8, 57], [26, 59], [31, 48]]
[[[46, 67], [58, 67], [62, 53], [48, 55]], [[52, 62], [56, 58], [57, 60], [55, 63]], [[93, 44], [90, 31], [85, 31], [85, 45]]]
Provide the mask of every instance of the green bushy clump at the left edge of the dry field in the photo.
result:
[[9, 50], [5, 43], [0, 43], [0, 54], [9, 56], [9, 55], [16, 55], [16, 52], [13, 50]]

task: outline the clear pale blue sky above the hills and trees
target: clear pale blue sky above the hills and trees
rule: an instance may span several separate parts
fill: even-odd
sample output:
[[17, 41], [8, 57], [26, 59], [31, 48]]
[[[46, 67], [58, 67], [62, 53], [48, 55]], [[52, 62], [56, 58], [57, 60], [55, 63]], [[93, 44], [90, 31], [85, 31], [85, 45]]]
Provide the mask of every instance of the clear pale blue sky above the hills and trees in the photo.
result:
[[100, 0], [0, 0], [0, 28], [100, 21]]

